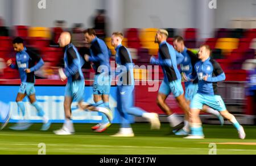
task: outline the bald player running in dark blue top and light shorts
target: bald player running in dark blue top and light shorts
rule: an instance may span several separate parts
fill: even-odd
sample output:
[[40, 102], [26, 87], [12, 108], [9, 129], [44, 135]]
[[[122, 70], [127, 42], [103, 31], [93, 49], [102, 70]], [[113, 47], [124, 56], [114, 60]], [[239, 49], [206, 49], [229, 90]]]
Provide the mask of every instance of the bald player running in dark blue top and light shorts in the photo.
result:
[[59, 69], [60, 79], [67, 80], [65, 87], [64, 111], [65, 122], [60, 130], [53, 131], [56, 135], [71, 135], [75, 133], [73, 122], [71, 120], [71, 104], [73, 100], [79, 102], [82, 107], [84, 101], [84, 75], [82, 74], [82, 65], [84, 61], [77, 51], [75, 45], [71, 43], [69, 32], [63, 32], [59, 38], [59, 45], [65, 49], [64, 64], [65, 69]]

